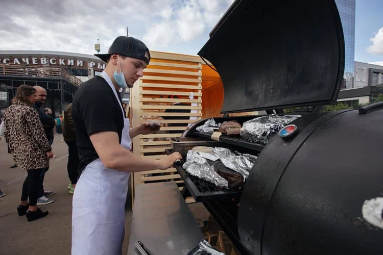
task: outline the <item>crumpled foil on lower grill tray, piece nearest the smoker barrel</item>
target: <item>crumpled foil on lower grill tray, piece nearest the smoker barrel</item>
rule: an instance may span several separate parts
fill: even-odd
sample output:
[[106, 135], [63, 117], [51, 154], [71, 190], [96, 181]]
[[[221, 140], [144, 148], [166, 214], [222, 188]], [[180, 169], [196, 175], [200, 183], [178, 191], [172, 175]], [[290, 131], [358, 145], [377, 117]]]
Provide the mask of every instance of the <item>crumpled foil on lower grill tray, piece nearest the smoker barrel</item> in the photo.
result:
[[222, 163], [244, 176], [244, 181], [249, 176], [249, 172], [257, 159], [256, 156], [250, 154], [241, 154], [240, 152], [232, 152], [230, 149], [215, 147], [212, 151], [222, 161]]

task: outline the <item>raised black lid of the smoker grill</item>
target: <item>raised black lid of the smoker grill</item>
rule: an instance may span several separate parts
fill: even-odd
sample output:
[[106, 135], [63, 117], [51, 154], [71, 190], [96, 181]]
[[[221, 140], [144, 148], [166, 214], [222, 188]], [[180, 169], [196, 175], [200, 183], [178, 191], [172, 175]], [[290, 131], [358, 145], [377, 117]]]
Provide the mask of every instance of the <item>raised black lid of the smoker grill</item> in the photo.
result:
[[223, 113], [331, 104], [344, 72], [334, 0], [237, 0], [199, 56], [217, 68]]

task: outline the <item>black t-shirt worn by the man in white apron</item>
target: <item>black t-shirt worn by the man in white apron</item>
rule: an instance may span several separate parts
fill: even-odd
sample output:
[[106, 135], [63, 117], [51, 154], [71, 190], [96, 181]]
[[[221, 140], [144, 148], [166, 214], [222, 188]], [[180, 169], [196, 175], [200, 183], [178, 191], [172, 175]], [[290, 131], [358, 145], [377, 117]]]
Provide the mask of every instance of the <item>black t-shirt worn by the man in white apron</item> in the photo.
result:
[[[113, 87], [115, 90], [115, 88]], [[72, 117], [75, 123], [76, 140], [80, 159], [79, 171], [98, 159], [89, 136], [93, 133], [112, 131], [118, 134], [121, 143], [124, 117], [119, 92], [115, 97], [104, 78], [97, 76], [83, 83], [72, 102]], [[125, 115], [125, 113], [124, 113]]]

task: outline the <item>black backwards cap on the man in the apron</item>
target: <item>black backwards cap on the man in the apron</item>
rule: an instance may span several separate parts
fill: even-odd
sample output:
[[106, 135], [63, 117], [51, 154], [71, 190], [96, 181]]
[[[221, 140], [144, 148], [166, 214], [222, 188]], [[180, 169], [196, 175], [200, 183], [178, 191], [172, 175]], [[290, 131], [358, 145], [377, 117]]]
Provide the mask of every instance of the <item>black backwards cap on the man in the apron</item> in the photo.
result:
[[[149, 59], [145, 57], [146, 52], [148, 53]], [[107, 54], [94, 54], [94, 56], [99, 57], [101, 60], [106, 62], [113, 54], [140, 59], [145, 61], [148, 65], [150, 61], [150, 52], [145, 43], [128, 36], [118, 36], [113, 41]]]

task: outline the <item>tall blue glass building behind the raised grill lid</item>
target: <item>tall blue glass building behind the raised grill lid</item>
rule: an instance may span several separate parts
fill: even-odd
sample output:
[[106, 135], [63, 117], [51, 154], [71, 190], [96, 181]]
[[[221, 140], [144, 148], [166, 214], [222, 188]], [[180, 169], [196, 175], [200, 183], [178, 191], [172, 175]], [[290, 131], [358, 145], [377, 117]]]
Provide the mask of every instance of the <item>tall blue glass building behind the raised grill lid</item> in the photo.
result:
[[345, 41], [345, 69], [342, 89], [353, 88], [355, 52], [355, 0], [335, 0], [341, 16]]

